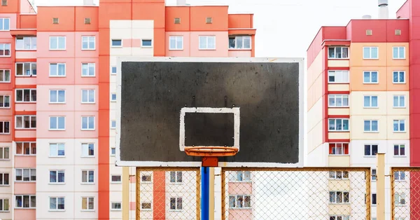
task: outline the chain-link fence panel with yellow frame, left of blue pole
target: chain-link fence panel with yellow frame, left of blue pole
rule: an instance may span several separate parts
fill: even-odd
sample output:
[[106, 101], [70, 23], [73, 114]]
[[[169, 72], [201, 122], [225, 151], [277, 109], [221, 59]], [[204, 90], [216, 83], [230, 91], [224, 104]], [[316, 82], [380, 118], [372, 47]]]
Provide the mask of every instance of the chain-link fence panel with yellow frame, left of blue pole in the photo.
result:
[[200, 219], [200, 168], [137, 168], [137, 219]]

